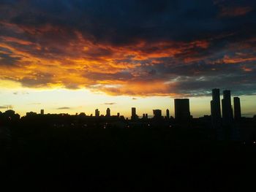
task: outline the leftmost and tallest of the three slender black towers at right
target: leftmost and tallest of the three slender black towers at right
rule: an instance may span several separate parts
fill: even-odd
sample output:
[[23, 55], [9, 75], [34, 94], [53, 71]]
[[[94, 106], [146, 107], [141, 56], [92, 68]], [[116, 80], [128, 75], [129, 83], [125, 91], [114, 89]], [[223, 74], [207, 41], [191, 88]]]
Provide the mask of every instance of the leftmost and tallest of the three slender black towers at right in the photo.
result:
[[220, 110], [220, 97], [219, 97], [218, 88], [215, 88], [212, 90], [211, 123], [213, 128], [220, 128], [222, 123], [222, 115]]

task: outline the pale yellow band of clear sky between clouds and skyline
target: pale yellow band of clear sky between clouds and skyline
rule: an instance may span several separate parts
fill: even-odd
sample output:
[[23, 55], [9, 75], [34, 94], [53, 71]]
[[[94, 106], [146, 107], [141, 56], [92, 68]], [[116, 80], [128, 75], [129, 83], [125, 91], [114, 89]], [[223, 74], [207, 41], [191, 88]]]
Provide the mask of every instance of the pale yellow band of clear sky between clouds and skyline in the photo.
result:
[[[231, 92], [232, 93], [232, 92]], [[182, 97], [181, 97], [182, 98]], [[183, 97], [184, 98], [184, 97]], [[221, 96], [222, 98], [222, 96]], [[255, 96], [240, 96], [242, 116], [252, 118], [256, 114], [256, 104], [252, 104]], [[105, 93], [93, 93], [86, 90], [69, 91], [68, 89], [34, 90], [31, 88], [14, 88], [1, 90], [0, 100], [1, 112], [7, 110], [8, 105], [12, 105], [13, 110], [21, 116], [26, 112], [37, 112], [45, 110], [45, 114], [53, 113], [76, 113], [85, 112], [86, 115], [94, 115], [94, 111], [99, 109], [100, 115], [105, 115], [106, 109], [110, 108], [111, 115], [120, 112], [125, 118], [130, 118], [131, 107], [136, 107], [139, 116], [143, 113], [153, 115], [153, 110], [170, 110], [170, 115], [174, 117], [174, 99], [170, 96], [108, 96]], [[203, 115], [211, 115], [211, 96], [200, 96], [189, 98], [190, 112], [194, 118]], [[233, 103], [233, 101], [232, 101]]]

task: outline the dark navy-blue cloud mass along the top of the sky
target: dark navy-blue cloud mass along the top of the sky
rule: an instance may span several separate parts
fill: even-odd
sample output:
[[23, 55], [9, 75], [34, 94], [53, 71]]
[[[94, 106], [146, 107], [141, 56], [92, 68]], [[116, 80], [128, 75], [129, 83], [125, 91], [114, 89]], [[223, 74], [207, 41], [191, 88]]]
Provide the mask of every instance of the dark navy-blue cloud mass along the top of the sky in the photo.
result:
[[[5, 6], [7, 2], [5, 2]], [[231, 7], [252, 7], [254, 1], [240, 4], [230, 1]], [[138, 39], [191, 40], [208, 37], [212, 32], [238, 28], [253, 23], [255, 15], [246, 20], [219, 20], [217, 15], [227, 3], [220, 1], [12, 1], [8, 18], [11, 23], [24, 28], [39, 28], [46, 24], [82, 31], [96, 42], [115, 45], [129, 44]], [[16, 14], [15, 14], [16, 13]], [[4, 18], [4, 16], [3, 16]], [[31, 30], [33, 31], [33, 30]], [[30, 31], [30, 32], [31, 32]], [[104, 31], [104, 32], [102, 32]], [[40, 34], [40, 30], [34, 31]], [[45, 35], [50, 36], [50, 33]]]

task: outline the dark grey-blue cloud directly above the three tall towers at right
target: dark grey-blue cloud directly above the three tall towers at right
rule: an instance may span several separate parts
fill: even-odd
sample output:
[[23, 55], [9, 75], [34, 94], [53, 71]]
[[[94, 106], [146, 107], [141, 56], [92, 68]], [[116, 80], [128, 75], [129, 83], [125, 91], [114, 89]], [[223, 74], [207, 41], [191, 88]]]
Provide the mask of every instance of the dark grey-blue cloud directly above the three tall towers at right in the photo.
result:
[[194, 63], [189, 65], [169, 66], [159, 64], [154, 67], [154, 79], [169, 78], [170, 93], [187, 96], [208, 95], [211, 88], [230, 89], [237, 95], [255, 94], [256, 66], [254, 62], [248, 64], [225, 63]]

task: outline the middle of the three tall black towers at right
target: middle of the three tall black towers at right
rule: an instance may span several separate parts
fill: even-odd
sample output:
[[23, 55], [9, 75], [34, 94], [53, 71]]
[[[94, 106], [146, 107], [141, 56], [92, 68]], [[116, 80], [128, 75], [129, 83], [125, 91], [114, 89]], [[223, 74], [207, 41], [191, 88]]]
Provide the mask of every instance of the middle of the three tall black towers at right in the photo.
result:
[[222, 99], [222, 123], [224, 126], [230, 126], [233, 122], [233, 110], [231, 105], [230, 90], [223, 91]]

